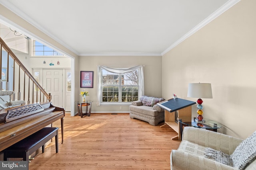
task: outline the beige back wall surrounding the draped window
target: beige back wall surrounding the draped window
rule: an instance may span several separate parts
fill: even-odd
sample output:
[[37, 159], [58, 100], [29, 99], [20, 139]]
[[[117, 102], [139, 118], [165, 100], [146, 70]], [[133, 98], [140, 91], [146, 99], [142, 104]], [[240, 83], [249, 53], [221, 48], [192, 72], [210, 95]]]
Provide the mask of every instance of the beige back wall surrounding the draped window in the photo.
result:
[[[96, 82], [97, 66], [144, 66], [145, 95], [162, 97], [162, 57], [160, 56], [81, 56], [79, 57], [80, 71], [94, 71], [94, 88], [80, 88], [80, 82], [76, 82], [76, 88], [86, 90], [90, 96], [86, 97], [92, 100], [92, 112], [129, 112], [129, 106], [123, 105], [101, 105], [96, 106]], [[77, 72], [80, 75], [80, 72]], [[78, 78], [80, 80], [80, 77]], [[79, 92], [78, 92], [79, 93]], [[76, 95], [76, 100], [81, 100], [80, 95]], [[122, 110], [120, 110], [122, 106]]]

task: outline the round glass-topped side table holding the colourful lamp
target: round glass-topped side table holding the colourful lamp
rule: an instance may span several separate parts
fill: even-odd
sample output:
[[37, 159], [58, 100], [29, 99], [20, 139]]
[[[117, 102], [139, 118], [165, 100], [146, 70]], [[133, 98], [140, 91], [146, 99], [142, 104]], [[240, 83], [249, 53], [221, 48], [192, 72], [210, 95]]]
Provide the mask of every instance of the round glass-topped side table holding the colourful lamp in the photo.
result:
[[205, 122], [196, 122], [196, 117], [194, 117], [194, 120], [192, 120], [191, 117], [188, 117], [188, 116], [178, 117], [177, 120], [179, 123], [181, 136], [183, 132], [183, 126], [203, 128], [203, 129], [212, 130], [214, 132], [217, 132], [217, 129], [222, 127], [222, 124], [220, 124], [219, 122], [216, 122], [210, 119], [205, 119], [205, 118], [204, 118]]

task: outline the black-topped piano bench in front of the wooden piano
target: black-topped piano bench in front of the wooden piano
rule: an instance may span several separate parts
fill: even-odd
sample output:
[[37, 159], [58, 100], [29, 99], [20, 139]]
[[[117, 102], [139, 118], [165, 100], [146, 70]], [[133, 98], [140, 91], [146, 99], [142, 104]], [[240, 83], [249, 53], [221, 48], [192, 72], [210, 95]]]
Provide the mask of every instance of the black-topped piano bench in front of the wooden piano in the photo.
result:
[[58, 153], [58, 127], [44, 127], [32, 135], [22, 139], [14, 145], [3, 150], [4, 160], [7, 158], [23, 158], [28, 161], [28, 156], [42, 147], [44, 153], [46, 142], [55, 136], [56, 153]]

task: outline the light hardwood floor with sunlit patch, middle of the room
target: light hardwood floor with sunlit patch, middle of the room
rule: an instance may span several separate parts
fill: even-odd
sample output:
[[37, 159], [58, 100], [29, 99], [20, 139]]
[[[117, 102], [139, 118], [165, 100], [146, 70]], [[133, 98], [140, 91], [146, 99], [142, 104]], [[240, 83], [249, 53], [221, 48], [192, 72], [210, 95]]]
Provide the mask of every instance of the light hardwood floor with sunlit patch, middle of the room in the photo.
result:
[[[56, 121], [54, 127], [60, 127]], [[130, 119], [128, 113], [92, 113], [64, 119], [64, 143], [59, 152], [53, 138], [44, 153], [29, 163], [30, 170], [170, 170], [170, 152], [180, 141], [171, 128]]]

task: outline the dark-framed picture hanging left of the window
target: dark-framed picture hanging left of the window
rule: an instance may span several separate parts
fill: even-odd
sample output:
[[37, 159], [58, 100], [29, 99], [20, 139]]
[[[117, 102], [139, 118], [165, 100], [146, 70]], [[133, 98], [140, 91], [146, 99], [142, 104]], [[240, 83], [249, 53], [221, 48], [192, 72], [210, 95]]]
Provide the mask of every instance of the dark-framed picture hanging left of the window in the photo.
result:
[[80, 71], [80, 88], [93, 88], [93, 71]]

